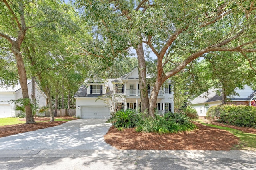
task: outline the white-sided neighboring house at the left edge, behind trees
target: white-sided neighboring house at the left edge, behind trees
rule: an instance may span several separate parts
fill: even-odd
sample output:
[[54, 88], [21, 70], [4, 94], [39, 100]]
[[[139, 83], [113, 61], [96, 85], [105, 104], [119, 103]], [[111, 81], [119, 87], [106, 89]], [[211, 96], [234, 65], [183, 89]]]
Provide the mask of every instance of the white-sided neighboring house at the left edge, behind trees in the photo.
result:
[[[27, 84], [28, 94], [31, 98], [31, 80], [28, 80]], [[16, 117], [19, 111], [15, 110], [14, 103], [9, 102], [9, 100], [18, 100], [20, 98], [22, 98], [20, 83], [16, 84], [15, 86], [0, 87], [0, 117]], [[42, 92], [42, 90], [40, 90], [38, 84], [36, 84], [36, 101], [38, 102], [39, 106], [45, 106], [46, 100], [46, 95], [44, 92]]]

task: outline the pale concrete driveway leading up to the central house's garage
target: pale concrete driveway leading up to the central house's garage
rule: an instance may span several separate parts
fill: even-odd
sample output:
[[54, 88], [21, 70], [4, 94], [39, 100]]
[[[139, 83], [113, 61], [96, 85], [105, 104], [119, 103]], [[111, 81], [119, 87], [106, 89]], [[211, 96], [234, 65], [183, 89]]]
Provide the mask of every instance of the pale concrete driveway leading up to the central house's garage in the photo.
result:
[[0, 150], [76, 149], [111, 150], [104, 135], [106, 119], [77, 119], [62, 125], [0, 138]]

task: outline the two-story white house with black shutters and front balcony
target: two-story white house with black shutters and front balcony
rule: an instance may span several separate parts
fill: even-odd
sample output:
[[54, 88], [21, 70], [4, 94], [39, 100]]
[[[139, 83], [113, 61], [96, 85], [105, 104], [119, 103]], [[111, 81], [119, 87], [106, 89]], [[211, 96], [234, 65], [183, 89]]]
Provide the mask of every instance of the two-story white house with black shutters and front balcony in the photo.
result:
[[[150, 78], [147, 75], [147, 78]], [[166, 82], [160, 90], [157, 98], [159, 114], [173, 111], [171, 83]], [[151, 94], [151, 86], [148, 85], [148, 95]], [[100, 97], [100, 96], [110, 96]], [[103, 100], [99, 100], [99, 97]], [[140, 109], [140, 88], [138, 68], [117, 79], [103, 80], [93, 78], [85, 80], [84, 84], [76, 92], [76, 116], [82, 119], [108, 119], [111, 112], [120, 109]]]

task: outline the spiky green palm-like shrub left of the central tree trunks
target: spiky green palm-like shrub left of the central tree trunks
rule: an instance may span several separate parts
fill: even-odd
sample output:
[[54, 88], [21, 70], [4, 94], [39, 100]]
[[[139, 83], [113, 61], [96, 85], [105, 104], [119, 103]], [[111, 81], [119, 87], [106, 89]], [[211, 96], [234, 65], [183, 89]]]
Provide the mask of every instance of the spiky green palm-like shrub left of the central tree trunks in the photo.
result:
[[116, 122], [113, 123], [115, 127], [131, 128], [138, 123], [138, 115], [134, 109], [120, 110], [115, 115]]

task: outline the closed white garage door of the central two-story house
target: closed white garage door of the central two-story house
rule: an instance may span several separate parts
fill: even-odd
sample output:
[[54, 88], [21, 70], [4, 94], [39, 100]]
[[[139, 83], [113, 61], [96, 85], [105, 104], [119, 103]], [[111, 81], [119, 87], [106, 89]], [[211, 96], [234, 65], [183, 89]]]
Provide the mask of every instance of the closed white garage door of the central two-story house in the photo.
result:
[[108, 119], [110, 111], [108, 107], [81, 107], [82, 119]]

